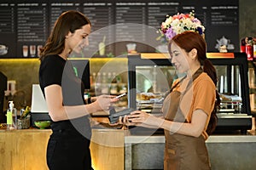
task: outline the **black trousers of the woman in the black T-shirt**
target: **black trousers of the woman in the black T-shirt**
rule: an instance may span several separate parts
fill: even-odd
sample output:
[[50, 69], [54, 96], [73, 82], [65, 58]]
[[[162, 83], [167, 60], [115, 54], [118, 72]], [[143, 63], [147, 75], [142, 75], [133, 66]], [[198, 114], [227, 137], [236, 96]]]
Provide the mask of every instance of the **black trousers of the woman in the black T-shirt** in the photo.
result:
[[47, 146], [49, 170], [91, 170], [90, 139], [76, 130], [54, 130]]

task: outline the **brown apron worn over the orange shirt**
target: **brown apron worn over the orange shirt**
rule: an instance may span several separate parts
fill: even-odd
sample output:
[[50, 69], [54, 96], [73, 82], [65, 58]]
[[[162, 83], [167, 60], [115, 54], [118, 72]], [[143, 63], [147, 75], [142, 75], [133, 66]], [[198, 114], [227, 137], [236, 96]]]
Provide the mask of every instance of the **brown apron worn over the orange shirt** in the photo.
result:
[[[192, 77], [199, 77], [202, 70], [199, 69]], [[190, 82], [183, 94], [191, 88]], [[175, 122], [186, 122], [182, 111], [179, 108], [183, 94], [177, 90], [172, 91], [166, 96], [163, 104], [163, 113], [166, 120]], [[165, 170], [209, 170], [210, 162], [208, 159], [205, 139], [201, 135], [198, 138], [178, 133], [171, 133], [165, 130], [166, 149], [165, 149]]]

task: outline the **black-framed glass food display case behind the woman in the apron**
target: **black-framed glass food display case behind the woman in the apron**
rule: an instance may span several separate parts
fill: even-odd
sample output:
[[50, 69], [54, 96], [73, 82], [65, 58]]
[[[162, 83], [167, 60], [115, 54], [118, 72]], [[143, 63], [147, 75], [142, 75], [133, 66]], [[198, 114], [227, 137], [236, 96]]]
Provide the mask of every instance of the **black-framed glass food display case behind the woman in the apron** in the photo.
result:
[[[242, 53], [208, 53], [218, 74], [218, 110], [216, 132], [252, 128], [249, 100], [247, 56]], [[128, 56], [129, 107], [161, 116], [161, 106], [172, 82], [179, 77], [168, 54]]]

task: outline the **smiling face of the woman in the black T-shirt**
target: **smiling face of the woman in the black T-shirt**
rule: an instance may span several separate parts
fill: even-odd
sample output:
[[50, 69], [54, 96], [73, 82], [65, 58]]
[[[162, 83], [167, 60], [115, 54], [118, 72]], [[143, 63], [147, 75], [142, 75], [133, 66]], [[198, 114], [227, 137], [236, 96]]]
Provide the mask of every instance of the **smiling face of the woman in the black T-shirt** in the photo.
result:
[[82, 26], [82, 28], [72, 32], [68, 32], [66, 36], [65, 48], [68, 53], [72, 51], [79, 53], [82, 48], [89, 45], [88, 36], [90, 34], [90, 24]]

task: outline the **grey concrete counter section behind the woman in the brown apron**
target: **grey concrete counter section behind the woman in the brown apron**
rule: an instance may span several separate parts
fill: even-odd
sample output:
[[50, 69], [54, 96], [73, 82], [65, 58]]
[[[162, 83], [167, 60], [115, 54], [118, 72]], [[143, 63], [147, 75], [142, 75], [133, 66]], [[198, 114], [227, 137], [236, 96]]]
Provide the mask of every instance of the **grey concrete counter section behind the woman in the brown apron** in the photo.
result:
[[[125, 136], [125, 170], [163, 169], [165, 137]], [[256, 135], [212, 135], [207, 139], [212, 170], [256, 169]]]

